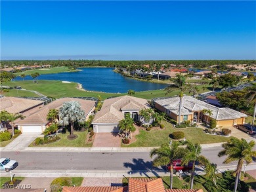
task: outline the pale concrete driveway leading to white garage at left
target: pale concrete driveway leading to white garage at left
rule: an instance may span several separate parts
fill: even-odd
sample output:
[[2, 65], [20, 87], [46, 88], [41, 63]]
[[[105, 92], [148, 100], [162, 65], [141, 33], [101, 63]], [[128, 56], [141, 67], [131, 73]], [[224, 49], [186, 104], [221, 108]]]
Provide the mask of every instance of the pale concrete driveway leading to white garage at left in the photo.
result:
[[5, 146], [4, 151], [20, 151], [25, 147], [28, 147], [33, 140], [39, 137], [40, 133], [23, 133], [18, 138], [15, 138], [10, 144]]

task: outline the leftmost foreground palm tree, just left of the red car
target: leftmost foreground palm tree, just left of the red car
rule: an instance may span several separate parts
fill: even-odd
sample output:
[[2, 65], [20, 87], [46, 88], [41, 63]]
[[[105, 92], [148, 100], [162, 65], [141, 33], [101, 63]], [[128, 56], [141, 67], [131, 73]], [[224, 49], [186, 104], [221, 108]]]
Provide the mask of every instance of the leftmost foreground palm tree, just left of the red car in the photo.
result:
[[184, 156], [184, 149], [179, 147], [177, 142], [173, 144], [162, 144], [160, 148], [155, 148], [150, 151], [150, 157], [155, 157], [153, 166], [163, 166], [170, 163], [170, 189], [173, 189], [173, 161], [181, 159]]

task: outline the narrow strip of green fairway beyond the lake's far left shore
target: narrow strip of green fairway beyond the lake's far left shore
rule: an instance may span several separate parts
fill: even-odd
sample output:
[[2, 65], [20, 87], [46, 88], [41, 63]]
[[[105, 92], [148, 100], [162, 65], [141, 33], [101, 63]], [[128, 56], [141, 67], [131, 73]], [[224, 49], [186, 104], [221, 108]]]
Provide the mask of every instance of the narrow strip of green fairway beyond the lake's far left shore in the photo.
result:
[[30, 75], [36, 72], [39, 74], [49, 74], [49, 73], [74, 72], [74, 71], [70, 70], [68, 67], [51, 67], [51, 68], [32, 69], [32, 70], [22, 71], [19, 73], [14, 73], [14, 75], [16, 76], [20, 76], [21, 74]]

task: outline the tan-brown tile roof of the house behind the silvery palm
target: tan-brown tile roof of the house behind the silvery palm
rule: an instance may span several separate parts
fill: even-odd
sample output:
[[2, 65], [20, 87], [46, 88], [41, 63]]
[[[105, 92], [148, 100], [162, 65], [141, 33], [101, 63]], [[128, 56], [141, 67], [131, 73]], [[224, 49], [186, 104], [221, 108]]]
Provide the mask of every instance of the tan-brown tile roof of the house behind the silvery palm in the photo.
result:
[[81, 104], [81, 109], [85, 111], [85, 117], [95, 106], [95, 101], [91, 100], [82, 100], [78, 98], [61, 98], [51, 102], [50, 104], [47, 104], [46, 106], [39, 109], [39, 111], [36, 111], [32, 115], [16, 123], [16, 125], [45, 125], [48, 123], [47, 114], [49, 113], [50, 109], [59, 109], [60, 107], [62, 107], [62, 104], [64, 102], [71, 101], [77, 101], [79, 102], [79, 104]]

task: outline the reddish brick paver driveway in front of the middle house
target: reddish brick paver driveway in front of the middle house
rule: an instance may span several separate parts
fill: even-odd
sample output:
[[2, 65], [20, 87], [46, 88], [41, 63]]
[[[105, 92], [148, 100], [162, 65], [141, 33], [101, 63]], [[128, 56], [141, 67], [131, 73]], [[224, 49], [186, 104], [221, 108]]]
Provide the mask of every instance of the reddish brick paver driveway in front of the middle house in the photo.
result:
[[121, 147], [121, 138], [118, 134], [96, 133], [93, 147]]

